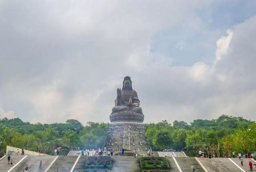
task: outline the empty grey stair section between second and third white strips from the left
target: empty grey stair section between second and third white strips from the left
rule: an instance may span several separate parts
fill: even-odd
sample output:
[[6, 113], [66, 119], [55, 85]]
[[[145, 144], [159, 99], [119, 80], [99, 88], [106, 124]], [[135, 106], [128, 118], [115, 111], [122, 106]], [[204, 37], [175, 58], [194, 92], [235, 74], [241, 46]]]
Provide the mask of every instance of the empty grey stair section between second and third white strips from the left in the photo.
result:
[[59, 156], [48, 171], [55, 172], [58, 170], [61, 172], [69, 172], [76, 159], [77, 156]]

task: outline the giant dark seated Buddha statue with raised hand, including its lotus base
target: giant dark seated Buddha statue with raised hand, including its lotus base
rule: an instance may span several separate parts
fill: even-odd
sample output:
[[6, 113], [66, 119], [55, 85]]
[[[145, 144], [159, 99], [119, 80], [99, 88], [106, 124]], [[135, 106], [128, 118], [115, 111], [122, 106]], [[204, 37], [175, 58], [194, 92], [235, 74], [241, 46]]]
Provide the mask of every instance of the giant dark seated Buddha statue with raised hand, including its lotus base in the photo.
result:
[[110, 115], [111, 122], [143, 122], [144, 115], [140, 107], [140, 100], [135, 90], [132, 90], [131, 78], [126, 76], [123, 88], [117, 89], [115, 106]]

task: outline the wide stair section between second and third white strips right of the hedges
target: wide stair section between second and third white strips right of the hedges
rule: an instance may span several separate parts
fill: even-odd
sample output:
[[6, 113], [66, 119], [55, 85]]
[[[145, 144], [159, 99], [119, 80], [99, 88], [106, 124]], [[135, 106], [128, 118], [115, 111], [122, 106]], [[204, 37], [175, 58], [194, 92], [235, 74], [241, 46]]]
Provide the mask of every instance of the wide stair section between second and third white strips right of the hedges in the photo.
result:
[[198, 158], [208, 171], [232, 171], [241, 172], [228, 158]]

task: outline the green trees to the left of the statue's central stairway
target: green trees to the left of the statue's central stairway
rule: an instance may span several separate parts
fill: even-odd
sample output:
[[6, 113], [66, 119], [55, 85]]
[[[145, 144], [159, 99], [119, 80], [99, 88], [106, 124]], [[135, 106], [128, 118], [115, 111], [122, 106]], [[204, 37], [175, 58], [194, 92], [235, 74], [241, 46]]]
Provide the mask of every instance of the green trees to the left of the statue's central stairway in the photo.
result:
[[53, 155], [56, 147], [62, 147], [60, 155], [67, 155], [75, 147], [102, 147], [107, 139], [108, 124], [81, 122], [69, 119], [66, 123], [31, 124], [19, 118], [0, 119], [0, 152], [6, 145]]

